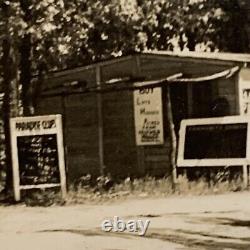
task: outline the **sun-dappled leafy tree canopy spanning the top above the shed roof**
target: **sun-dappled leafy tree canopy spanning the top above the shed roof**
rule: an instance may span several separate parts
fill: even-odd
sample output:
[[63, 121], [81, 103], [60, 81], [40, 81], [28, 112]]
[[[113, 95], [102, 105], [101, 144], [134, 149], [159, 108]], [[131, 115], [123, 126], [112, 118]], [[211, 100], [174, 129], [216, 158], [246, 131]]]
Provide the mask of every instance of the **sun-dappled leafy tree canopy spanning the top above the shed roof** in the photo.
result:
[[41, 64], [62, 69], [152, 49], [249, 51], [245, 0], [1, 2], [19, 60], [29, 59], [32, 73]]

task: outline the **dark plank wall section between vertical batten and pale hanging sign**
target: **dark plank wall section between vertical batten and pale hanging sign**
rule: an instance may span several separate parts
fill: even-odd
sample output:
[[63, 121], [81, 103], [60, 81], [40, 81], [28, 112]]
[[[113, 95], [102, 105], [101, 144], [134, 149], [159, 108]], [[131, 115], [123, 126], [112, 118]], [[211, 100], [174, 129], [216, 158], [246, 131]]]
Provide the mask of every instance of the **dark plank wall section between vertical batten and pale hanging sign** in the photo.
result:
[[138, 175], [132, 93], [107, 93], [102, 100], [105, 171], [120, 177]]

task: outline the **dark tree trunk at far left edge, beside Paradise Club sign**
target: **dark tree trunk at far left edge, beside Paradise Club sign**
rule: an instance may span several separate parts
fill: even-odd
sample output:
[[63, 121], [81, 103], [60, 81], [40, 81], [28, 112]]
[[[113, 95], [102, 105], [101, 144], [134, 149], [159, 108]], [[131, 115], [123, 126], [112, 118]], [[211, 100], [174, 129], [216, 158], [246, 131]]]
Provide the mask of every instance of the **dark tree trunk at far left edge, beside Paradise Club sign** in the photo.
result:
[[18, 66], [17, 54], [15, 54], [13, 37], [10, 33], [11, 27], [9, 19], [11, 17], [10, 5], [1, 5], [3, 12], [4, 38], [2, 40], [2, 70], [3, 70], [3, 126], [5, 140], [5, 165], [6, 183], [4, 192], [6, 195], [13, 190], [12, 187], [12, 159], [11, 159], [11, 140], [10, 140], [10, 117], [18, 115], [19, 96], [18, 96]]

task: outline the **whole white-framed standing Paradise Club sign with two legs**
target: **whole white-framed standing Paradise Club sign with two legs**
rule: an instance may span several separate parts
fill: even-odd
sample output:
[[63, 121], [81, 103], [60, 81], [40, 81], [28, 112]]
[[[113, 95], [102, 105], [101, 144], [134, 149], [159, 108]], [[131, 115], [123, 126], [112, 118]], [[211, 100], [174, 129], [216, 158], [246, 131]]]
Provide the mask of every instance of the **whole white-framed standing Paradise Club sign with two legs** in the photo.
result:
[[66, 174], [61, 115], [10, 119], [15, 200], [21, 190], [61, 187], [66, 195]]

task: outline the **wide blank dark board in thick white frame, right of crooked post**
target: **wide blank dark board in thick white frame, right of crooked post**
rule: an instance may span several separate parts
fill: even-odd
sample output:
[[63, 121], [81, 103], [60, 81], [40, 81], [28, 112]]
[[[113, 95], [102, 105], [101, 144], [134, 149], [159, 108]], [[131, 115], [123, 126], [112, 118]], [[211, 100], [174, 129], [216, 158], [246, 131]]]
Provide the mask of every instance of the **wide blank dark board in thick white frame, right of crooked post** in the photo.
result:
[[249, 121], [229, 116], [183, 120], [178, 166], [234, 166], [249, 161]]

